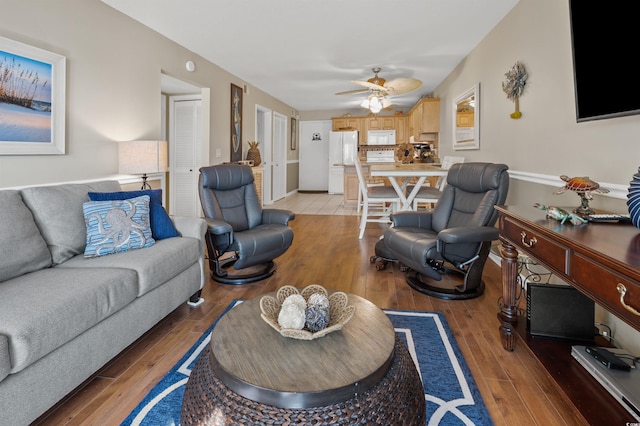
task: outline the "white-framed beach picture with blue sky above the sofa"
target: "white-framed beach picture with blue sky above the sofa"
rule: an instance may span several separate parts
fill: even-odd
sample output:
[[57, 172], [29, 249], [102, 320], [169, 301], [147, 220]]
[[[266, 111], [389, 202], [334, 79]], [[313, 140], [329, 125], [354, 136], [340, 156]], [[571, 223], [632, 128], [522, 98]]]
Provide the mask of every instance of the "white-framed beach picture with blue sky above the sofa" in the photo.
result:
[[0, 155], [65, 151], [66, 58], [0, 37]]

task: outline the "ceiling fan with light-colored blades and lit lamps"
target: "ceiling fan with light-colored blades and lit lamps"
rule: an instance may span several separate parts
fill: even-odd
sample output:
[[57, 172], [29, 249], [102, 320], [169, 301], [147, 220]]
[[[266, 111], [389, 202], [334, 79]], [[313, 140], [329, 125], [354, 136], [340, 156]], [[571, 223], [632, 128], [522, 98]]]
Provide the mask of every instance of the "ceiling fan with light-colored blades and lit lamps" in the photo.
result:
[[360, 104], [361, 107], [371, 110], [374, 114], [380, 112], [381, 109], [389, 109], [394, 104], [391, 103], [387, 96], [401, 95], [413, 92], [422, 86], [420, 80], [414, 78], [394, 78], [386, 81], [382, 77], [378, 77], [381, 71], [380, 67], [371, 69], [374, 76], [367, 81], [351, 80], [352, 83], [364, 86], [364, 89], [348, 90], [346, 92], [338, 92], [336, 95], [352, 95], [358, 93], [370, 93], [369, 96]]

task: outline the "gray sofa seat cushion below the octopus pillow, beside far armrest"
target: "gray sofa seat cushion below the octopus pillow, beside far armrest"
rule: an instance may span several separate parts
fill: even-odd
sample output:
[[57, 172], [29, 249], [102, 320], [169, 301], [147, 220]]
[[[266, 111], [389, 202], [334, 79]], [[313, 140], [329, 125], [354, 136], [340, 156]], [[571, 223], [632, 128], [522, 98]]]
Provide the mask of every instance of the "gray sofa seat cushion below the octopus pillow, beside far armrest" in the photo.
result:
[[200, 240], [188, 237], [167, 238], [144, 250], [116, 253], [87, 259], [76, 256], [59, 268], [126, 268], [138, 274], [137, 296], [160, 287], [179, 275], [200, 256]]

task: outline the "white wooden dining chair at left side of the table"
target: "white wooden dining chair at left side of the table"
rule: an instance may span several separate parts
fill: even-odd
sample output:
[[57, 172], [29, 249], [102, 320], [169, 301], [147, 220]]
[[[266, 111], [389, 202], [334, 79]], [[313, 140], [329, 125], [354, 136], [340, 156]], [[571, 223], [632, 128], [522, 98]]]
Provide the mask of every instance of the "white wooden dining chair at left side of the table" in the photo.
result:
[[391, 223], [391, 213], [400, 208], [400, 197], [396, 190], [390, 186], [369, 186], [362, 172], [360, 160], [355, 161], [358, 185], [362, 194], [362, 211], [360, 213], [360, 235], [364, 236], [364, 230], [368, 222]]

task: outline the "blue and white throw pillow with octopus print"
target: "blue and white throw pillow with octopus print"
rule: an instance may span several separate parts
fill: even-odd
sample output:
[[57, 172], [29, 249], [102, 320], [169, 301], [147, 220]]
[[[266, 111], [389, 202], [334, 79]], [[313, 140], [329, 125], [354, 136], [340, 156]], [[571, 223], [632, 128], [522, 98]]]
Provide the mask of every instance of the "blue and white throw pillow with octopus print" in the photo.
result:
[[82, 205], [87, 225], [84, 257], [151, 247], [149, 196], [128, 200], [89, 201]]

